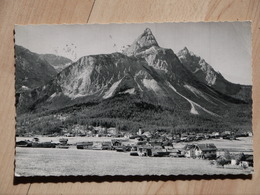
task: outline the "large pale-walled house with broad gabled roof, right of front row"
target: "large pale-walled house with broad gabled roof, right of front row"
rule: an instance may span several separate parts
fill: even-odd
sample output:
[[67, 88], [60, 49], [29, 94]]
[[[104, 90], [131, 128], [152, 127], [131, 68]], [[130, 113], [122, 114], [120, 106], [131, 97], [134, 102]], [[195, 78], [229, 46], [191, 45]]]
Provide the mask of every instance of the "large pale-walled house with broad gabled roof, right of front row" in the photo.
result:
[[196, 158], [216, 159], [217, 147], [213, 143], [196, 144], [194, 147]]

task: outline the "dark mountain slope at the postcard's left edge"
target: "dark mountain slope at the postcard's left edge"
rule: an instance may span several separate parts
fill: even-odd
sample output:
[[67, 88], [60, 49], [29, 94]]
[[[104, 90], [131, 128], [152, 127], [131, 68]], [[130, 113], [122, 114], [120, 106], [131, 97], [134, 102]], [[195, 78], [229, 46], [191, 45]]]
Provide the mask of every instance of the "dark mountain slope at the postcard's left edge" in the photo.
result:
[[16, 92], [37, 88], [56, 76], [55, 69], [39, 54], [15, 46]]

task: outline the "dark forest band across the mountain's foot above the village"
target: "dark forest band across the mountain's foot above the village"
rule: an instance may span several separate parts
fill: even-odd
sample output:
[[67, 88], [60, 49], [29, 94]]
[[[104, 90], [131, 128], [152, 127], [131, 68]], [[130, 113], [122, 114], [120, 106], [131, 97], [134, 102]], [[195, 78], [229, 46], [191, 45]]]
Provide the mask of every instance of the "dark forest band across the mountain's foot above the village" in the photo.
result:
[[251, 129], [251, 108], [234, 104], [220, 117], [200, 116], [185, 110], [162, 107], [127, 95], [97, 102], [68, 106], [60, 110], [26, 113], [17, 117], [17, 134], [52, 134], [73, 125], [117, 127], [120, 131], [210, 133], [213, 131], [247, 132]]

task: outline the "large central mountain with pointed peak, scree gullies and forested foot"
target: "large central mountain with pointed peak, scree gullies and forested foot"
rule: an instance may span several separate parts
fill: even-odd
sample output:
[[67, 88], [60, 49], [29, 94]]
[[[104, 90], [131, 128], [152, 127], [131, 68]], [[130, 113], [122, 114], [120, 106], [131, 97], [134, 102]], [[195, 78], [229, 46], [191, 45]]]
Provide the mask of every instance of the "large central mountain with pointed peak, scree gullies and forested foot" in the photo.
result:
[[[32, 130], [40, 128], [39, 117], [44, 124], [51, 118], [57, 123], [54, 129], [97, 122], [122, 123], [126, 129], [201, 128], [209, 123], [207, 128], [226, 128], [223, 123], [241, 125], [238, 114], [250, 118], [250, 105], [200, 81], [171, 49], [159, 46], [150, 29], [122, 53], [80, 58], [48, 83], [22, 93], [17, 102], [18, 124], [19, 118], [30, 120]], [[24, 113], [37, 117], [25, 120]], [[50, 124], [42, 129], [46, 127]]]

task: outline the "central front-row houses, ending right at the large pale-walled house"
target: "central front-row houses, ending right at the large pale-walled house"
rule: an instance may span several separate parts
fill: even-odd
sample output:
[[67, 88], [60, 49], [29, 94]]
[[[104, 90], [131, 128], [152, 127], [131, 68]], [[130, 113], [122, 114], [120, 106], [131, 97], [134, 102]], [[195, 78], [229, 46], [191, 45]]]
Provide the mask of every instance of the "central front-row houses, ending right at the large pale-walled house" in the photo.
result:
[[217, 147], [214, 144], [187, 144], [182, 149], [175, 149], [170, 141], [137, 141], [129, 144], [125, 139], [112, 139], [111, 142], [78, 142], [77, 149], [115, 150], [130, 152], [132, 156], [172, 156], [187, 158], [215, 159]]

